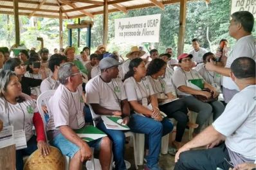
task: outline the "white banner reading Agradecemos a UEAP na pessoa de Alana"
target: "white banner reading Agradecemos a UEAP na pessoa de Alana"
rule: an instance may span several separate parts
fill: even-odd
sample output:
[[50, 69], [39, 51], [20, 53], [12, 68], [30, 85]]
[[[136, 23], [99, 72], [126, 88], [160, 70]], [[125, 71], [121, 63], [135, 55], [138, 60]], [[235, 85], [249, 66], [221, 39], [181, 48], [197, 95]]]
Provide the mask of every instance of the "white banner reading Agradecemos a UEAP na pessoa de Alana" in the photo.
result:
[[161, 14], [114, 20], [116, 42], [159, 42]]

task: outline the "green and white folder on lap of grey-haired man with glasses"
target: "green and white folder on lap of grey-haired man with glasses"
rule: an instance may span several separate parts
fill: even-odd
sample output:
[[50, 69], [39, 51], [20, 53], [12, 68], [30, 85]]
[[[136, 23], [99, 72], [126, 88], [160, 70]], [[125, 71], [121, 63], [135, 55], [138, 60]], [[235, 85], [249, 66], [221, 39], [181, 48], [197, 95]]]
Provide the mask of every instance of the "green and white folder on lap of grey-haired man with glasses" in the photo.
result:
[[77, 133], [78, 137], [80, 137], [82, 140], [86, 142], [91, 142], [93, 140], [107, 136], [104, 132], [102, 132], [98, 128], [95, 128], [95, 126], [91, 125], [84, 126], [83, 128], [74, 131], [75, 133]]

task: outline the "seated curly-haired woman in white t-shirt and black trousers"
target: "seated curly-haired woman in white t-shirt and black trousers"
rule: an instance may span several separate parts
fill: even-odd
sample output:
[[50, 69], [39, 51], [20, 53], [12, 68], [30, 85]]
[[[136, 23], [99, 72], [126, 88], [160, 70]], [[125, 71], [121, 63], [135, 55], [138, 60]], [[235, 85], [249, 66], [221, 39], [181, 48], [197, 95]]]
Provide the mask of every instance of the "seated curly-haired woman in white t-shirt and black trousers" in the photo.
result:
[[[170, 86], [168, 86], [163, 78], [161, 78], [161, 76], [165, 74], [166, 67], [167, 64], [160, 58], [152, 60], [147, 66], [147, 78], [149, 78], [152, 89], [158, 98], [160, 110], [167, 114], [167, 117], [174, 118], [178, 121], [176, 138], [172, 144], [179, 149], [181, 148], [181, 140], [188, 124], [188, 109], [186, 103], [182, 99], [172, 101], [177, 99], [177, 97], [172, 94]], [[167, 103], [168, 101], [172, 102]], [[161, 105], [161, 103], [165, 104]]]

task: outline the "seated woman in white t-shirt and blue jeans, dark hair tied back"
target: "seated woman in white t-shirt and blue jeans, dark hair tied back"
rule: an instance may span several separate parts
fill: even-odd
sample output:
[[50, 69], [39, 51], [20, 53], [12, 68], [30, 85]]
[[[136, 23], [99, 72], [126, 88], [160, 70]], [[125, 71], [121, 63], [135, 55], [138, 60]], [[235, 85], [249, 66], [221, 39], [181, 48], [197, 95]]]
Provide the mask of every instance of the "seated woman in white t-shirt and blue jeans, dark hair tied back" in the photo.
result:
[[145, 75], [145, 62], [142, 58], [131, 60], [123, 85], [131, 110], [136, 114], [131, 114], [128, 125], [133, 132], [146, 135], [146, 144], [149, 145], [149, 154], [146, 157], [147, 169], [160, 169], [158, 160], [161, 137], [170, 133], [173, 125], [169, 119], [161, 116], [158, 99]]

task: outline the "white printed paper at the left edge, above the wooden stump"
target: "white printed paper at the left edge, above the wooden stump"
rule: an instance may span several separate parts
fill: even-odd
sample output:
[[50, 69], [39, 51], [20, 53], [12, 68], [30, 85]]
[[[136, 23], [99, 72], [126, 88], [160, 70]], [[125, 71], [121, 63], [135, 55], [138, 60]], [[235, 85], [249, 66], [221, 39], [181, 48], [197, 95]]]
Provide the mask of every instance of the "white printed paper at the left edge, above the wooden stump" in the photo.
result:
[[14, 143], [14, 126], [6, 126], [0, 132], [0, 148], [11, 146]]

